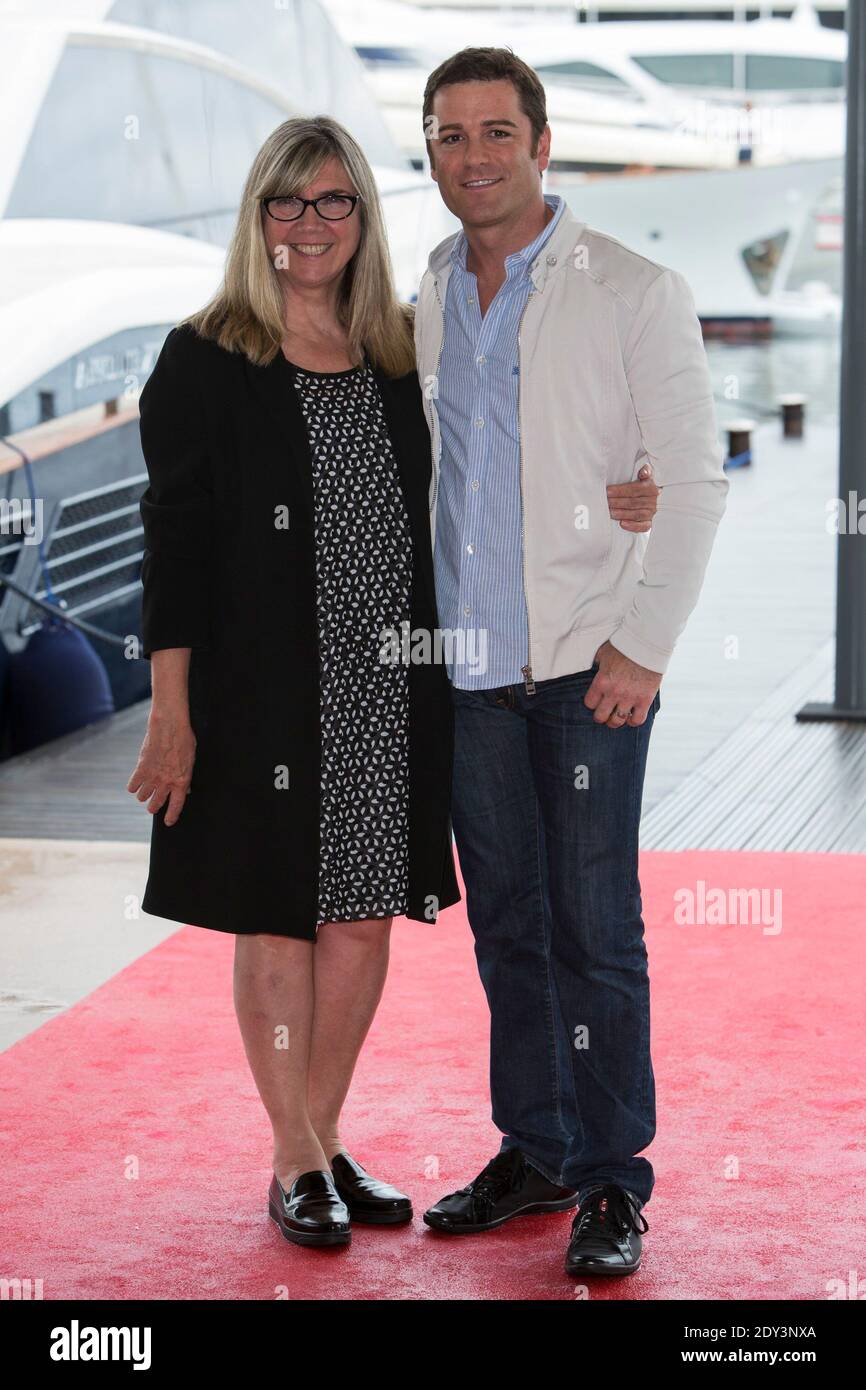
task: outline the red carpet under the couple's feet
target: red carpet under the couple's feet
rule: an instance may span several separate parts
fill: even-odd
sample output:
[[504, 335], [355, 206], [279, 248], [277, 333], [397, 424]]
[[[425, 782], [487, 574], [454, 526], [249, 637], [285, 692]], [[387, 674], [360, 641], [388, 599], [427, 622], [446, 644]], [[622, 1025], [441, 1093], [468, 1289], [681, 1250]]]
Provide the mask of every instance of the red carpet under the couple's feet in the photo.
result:
[[[656, 1187], [642, 1269], [588, 1297], [827, 1298], [863, 1265], [863, 859], [646, 853], [641, 870]], [[698, 880], [781, 890], [781, 931], [677, 926]], [[0, 1276], [42, 1279], [46, 1300], [587, 1297], [563, 1272], [571, 1213], [461, 1240], [420, 1219], [499, 1141], [461, 906], [395, 927], [343, 1140], [417, 1215], [356, 1226], [348, 1250], [300, 1250], [267, 1216], [232, 949], [182, 929], [0, 1058]]]

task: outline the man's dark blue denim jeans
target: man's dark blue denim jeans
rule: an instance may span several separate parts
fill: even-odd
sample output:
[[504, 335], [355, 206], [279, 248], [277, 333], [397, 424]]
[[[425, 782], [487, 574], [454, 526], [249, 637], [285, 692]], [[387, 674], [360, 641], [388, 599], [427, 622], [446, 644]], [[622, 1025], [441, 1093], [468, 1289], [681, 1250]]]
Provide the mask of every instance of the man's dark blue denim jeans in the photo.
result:
[[500, 1148], [581, 1201], [644, 1205], [655, 1127], [638, 823], [659, 696], [639, 727], [596, 724], [598, 666], [455, 703], [452, 819], [491, 1009]]

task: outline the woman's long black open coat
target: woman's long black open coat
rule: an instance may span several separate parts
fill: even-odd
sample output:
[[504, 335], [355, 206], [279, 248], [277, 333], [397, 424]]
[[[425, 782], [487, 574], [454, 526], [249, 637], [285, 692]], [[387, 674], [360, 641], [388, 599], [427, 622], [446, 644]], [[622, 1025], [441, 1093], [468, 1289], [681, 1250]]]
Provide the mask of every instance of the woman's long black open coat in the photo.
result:
[[[431, 457], [418, 378], [375, 377], [411, 528], [411, 630], [432, 631]], [[168, 334], [139, 407], [150, 480], [140, 502], [143, 655], [192, 648], [197, 741], [178, 820], [165, 826], [167, 805], [153, 816], [142, 906], [218, 931], [316, 940], [316, 539], [292, 368], [282, 353], [257, 367], [182, 325]], [[275, 524], [286, 507], [288, 528]], [[460, 897], [449, 816], [453, 710], [441, 662], [409, 664], [409, 723], [407, 915], [434, 922]]]

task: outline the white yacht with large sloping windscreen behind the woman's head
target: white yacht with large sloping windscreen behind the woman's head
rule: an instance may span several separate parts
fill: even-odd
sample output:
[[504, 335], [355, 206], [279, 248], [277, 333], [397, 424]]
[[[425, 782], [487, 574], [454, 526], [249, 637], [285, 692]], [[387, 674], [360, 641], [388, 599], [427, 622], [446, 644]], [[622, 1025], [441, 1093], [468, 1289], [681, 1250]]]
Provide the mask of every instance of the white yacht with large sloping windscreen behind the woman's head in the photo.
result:
[[324, 111], [374, 167], [403, 297], [430, 236], [452, 225], [317, 0], [265, 7], [257, 28], [225, 0], [0, 0], [0, 217], [131, 222], [225, 246], [257, 146], [288, 115]]

